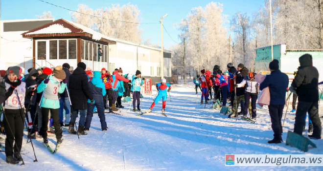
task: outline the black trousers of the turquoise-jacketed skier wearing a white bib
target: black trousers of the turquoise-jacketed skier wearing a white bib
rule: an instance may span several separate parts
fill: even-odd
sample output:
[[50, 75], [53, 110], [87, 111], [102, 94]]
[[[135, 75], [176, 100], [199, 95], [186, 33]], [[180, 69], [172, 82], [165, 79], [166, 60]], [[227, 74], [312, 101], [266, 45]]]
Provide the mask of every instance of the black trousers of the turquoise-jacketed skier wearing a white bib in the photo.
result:
[[[42, 127], [39, 131], [39, 134], [43, 136], [43, 138], [47, 138], [47, 125], [48, 125], [48, 113], [50, 111], [51, 117], [53, 118], [53, 124], [55, 127], [55, 135], [56, 139], [61, 139], [63, 136], [63, 130], [61, 128], [61, 124], [59, 122], [59, 108], [46, 108], [42, 107]], [[50, 126], [49, 126], [50, 127]]]

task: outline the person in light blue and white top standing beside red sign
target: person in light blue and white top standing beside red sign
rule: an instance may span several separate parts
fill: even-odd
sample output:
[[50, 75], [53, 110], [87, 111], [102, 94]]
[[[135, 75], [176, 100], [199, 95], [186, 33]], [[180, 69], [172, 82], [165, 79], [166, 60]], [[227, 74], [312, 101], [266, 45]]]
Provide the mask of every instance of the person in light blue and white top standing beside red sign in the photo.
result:
[[136, 101], [137, 101], [137, 110], [140, 111], [140, 89], [141, 85], [143, 85], [143, 81], [141, 78], [141, 72], [139, 70], [136, 71], [136, 76], [133, 76], [132, 79], [132, 91], [133, 91], [133, 102], [132, 105], [134, 107], [134, 111], [136, 111]]

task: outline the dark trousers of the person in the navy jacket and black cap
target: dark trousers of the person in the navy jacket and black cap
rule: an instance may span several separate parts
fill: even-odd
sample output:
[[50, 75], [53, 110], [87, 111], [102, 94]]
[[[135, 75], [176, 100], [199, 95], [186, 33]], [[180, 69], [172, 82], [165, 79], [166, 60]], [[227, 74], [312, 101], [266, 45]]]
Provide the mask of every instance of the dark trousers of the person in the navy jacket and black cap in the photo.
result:
[[[281, 117], [285, 105], [269, 105], [269, 115], [272, 121], [272, 129], [274, 131], [274, 138], [281, 139], [282, 126], [281, 126]], [[304, 117], [302, 118], [304, 121]], [[303, 128], [302, 128], [303, 130]]]

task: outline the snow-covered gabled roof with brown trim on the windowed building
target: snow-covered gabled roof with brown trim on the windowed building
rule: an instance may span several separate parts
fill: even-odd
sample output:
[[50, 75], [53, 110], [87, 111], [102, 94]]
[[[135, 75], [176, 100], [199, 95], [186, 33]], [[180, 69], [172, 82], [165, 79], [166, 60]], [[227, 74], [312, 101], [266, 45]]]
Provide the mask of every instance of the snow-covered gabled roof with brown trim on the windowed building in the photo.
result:
[[68, 37], [68, 36], [82, 36], [91, 38], [95, 41], [101, 41], [105, 43], [115, 44], [116, 42], [109, 37], [92, 30], [84, 25], [59, 19], [40, 27], [34, 28], [22, 34], [23, 38], [39, 38], [39, 37]]

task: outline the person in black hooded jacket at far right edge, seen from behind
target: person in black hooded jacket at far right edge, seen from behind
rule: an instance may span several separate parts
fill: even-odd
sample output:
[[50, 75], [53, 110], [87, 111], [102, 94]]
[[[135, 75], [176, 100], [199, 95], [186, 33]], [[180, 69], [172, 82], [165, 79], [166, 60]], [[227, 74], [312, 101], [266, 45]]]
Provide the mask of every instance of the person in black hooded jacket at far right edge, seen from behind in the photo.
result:
[[319, 116], [319, 71], [313, 66], [312, 56], [305, 54], [300, 57], [300, 67], [293, 80], [290, 90], [299, 95], [296, 110], [294, 132], [302, 135], [305, 126], [304, 117], [308, 112], [313, 124], [310, 138], [321, 139], [321, 120]]

